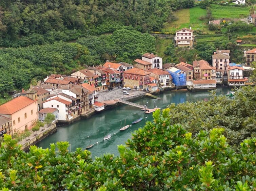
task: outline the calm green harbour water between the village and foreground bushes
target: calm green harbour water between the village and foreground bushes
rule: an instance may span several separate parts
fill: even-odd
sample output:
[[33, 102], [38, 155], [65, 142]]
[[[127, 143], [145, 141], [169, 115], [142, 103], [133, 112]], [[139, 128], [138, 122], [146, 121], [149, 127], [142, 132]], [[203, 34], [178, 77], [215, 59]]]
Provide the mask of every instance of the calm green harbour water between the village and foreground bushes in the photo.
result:
[[[226, 94], [230, 90], [227, 87], [219, 87], [216, 91], [217, 94]], [[170, 103], [177, 104], [185, 101], [194, 102], [198, 100], [206, 100], [209, 98], [209, 92], [164, 92], [158, 96], [161, 98], [160, 100], [144, 98], [135, 101], [135, 103], [154, 108], [155, 102], [158, 108], [163, 109]], [[132, 125], [125, 131], [119, 131], [121, 123], [122, 126], [124, 126], [124, 119], [126, 119], [126, 125], [130, 125], [137, 118], [143, 118], [143, 120], [138, 124]], [[94, 146], [90, 148], [93, 158], [94, 156], [101, 156], [104, 153], [119, 155], [117, 145], [125, 144], [125, 141], [131, 138], [131, 133], [134, 130], [143, 127], [146, 120], [152, 120], [152, 114], [144, 114], [139, 108], [130, 105], [122, 105], [111, 110], [97, 113], [89, 119], [82, 119], [71, 125], [58, 127], [58, 131], [55, 134], [46, 137], [38, 143], [38, 146], [46, 148], [50, 143], [69, 141], [71, 144], [71, 151], [75, 151], [76, 147], [85, 148], [91, 141], [91, 143], [94, 144]], [[103, 141], [103, 137], [107, 134], [108, 130], [109, 134], [112, 134], [112, 137], [109, 140]]]

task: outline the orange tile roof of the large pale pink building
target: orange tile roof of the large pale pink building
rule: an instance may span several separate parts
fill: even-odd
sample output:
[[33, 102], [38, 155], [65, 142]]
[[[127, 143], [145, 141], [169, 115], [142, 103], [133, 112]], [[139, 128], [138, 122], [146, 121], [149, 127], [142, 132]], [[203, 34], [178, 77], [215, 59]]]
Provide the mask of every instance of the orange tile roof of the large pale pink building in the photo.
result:
[[37, 100], [31, 100], [25, 96], [20, 96], [18, 98], [14, 98], [13, 100], [3, 104], [0, 106], [0, 114], [13, 114], [22, 108], [31, 105]]

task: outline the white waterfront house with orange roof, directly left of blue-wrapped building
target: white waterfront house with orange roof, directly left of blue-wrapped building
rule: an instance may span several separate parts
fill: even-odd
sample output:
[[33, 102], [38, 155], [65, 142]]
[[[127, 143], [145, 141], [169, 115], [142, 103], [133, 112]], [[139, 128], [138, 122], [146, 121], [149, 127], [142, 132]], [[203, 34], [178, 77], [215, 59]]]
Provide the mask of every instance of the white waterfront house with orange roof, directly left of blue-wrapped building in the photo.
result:
[[172, 85], [172, 76], [167, 71], [163, 71], [157, 68], [148, 70], [150, 76], [157, 79], [159, 86], [171, 86]]

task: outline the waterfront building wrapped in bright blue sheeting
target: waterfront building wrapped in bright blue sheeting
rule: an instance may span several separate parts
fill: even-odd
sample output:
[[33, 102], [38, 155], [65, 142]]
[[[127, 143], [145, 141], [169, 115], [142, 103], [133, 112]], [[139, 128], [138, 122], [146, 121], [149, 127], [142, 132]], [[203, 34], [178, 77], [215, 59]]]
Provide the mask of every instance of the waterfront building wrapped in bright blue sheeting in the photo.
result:
[[167, 70], [172, 78], [175, 86], [185, 86], [186, 85], [186, 73], [182, 70], [177, 69], [176, 67], [172, 67]]

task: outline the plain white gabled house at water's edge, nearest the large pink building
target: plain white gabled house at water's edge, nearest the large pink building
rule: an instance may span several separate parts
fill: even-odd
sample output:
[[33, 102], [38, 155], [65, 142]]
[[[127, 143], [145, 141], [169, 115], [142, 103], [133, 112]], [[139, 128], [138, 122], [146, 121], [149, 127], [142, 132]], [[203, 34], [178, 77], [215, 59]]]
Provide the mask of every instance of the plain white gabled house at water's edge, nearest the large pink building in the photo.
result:
[[61, 98], [52, 98], [43, 102], [44, 108], [56, 108], [58, 110], [58, 120], [69, 120], [73, 118], [70, 114], [72, 112], [72, 102], [68, 102]]

